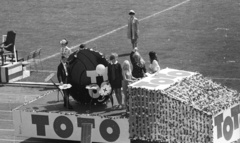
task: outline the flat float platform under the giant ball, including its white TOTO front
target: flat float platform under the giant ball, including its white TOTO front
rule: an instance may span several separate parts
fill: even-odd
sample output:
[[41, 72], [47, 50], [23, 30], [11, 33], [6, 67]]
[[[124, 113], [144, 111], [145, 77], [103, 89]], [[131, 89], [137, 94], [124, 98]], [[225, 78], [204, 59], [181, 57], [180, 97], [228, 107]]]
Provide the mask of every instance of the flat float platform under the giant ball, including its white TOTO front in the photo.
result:
[[63, 97], [56, 90], [15, 108], [13, 121], [16, 136], [92, 142], [130, 143], [129, 121], [125, 110], [113, 110], [111, 103], [78, 104], [73, 109], [63, 106]]

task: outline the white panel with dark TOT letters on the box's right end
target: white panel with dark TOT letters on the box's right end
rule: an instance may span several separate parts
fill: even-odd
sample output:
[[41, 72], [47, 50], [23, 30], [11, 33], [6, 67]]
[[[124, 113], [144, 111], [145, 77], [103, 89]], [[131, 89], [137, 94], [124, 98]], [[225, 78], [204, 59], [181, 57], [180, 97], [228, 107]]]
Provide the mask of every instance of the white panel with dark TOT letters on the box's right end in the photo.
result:
[[231, 143], [240, 139], [240, 104], [213, 117], [214, 143]]

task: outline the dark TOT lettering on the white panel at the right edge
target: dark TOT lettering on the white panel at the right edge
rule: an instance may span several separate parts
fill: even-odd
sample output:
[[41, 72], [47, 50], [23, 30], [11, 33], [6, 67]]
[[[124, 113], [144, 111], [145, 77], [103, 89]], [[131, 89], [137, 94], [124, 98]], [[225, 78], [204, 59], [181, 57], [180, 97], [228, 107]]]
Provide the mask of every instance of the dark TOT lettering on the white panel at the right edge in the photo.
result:
[[217, 127], [217, 139], [224, 137], [225, 140], [229, 141], [234, 131], [239, 128], [240, 105], [232, 107], [230, 111], [231, 116], [223, 118], [224, 113], [221, 113], [214, 117], [214, 126]]

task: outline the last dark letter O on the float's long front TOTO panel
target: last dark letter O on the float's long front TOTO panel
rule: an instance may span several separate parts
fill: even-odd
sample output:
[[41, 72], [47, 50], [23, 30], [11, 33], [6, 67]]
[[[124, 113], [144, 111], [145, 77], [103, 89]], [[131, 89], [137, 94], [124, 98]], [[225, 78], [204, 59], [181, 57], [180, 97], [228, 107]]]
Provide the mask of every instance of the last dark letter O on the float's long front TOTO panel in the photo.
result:
[[[108, 128], [112, 129], [112, 133], [107, 132]], [[114, 142], [120, 136], [120, 128], [118, 124], [110, 119], [106, 119], [100, 124], [99, 131], [101, 136], [108, 142]]]

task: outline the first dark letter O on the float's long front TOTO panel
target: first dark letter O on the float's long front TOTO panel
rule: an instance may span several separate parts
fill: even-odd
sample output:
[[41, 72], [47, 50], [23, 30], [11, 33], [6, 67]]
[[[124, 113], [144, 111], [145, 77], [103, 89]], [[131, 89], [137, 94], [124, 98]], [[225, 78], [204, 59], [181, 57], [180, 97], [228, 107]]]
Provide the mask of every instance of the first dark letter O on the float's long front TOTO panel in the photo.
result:
[[[66, 126], [65, 130], [61, 129], [61, 125], [64, 124]], [[59, 116], [55, 119], [53, 123], [55, 133], [61, 138], [68, 138], [73, 133], [73, 124], [70, 119], [65, 116]]]

